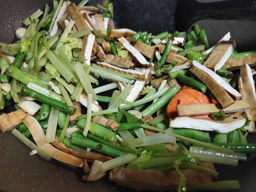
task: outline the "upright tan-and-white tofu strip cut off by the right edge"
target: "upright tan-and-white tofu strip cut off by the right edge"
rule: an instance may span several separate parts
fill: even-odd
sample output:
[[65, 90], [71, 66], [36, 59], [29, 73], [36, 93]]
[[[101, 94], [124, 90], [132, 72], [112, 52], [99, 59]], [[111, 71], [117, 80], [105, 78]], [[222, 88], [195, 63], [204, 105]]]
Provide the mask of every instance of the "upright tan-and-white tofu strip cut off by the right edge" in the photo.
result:
[[240, 68], [240, 73], [244, 96], [251, 105], [249, 110], [253, 118], [252, 120], [256, 121], [256, 93], [251, 68], [245, 64]]

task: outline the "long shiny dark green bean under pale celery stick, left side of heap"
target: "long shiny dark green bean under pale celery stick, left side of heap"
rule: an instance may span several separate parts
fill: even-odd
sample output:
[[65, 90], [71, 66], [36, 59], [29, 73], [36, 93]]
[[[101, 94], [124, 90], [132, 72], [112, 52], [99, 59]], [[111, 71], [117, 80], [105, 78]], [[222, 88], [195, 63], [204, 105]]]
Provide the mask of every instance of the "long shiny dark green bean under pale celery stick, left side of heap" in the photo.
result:
[[55, 108], [60, 109], [61, 111], [68, 113], [68, 114], [74, 114], [76, 111], [76, 108], [74, 107], [68, 107], [68, 105], [66, 103], [63, 103], [61, 101], [52, 99], [51, 97], [48, 97], [42, 93], [36, 92], [28, 87], [23, 87], [22, 88], [22, 93], [24, 95], [30, 96], [36, 100], [39, 100], [45, 104], [48, 104], [50, 106], [53, 106]]

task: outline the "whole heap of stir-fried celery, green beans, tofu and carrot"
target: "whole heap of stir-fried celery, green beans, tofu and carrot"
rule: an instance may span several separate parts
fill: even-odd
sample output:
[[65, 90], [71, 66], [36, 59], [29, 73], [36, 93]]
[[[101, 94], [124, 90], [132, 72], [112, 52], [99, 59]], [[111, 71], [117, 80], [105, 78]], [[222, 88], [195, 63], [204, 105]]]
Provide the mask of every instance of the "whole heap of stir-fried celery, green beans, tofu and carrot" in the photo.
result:
[[255, 51], [237, 53], [229, 32], [210, 47], [197, 24], [116, 29], [113, 3], [87, 1], [46, 4], [16, 30], [19, 41], [0, 42], [0, 109], [17, 109], [0, 116], [2, 132], [47, 161], [83, 167], [84, 181], [111, 170], [109, 180], [135, 189], [239, 188], [213, 182], [213, 163], [256, 152], [246, 140], [256, 132]]

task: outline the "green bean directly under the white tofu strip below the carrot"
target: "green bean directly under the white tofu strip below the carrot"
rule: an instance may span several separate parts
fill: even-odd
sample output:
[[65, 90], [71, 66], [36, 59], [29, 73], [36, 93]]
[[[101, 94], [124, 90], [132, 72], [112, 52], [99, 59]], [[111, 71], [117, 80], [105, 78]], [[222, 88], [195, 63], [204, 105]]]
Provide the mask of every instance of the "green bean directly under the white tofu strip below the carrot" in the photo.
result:
[[209, 142], [209, 133], [205, 133], [199, 130], [177, 128], [173, 129], [172, 132], [199, 141]]

